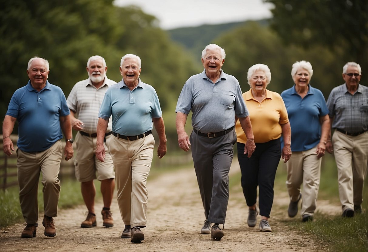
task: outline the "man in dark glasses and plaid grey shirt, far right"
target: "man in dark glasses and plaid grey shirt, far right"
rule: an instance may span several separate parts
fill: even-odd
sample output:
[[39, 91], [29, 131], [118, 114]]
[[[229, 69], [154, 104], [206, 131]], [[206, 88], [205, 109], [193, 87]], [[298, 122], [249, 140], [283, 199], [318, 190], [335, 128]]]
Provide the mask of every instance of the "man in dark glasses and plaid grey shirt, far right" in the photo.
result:
[[332, 89], [328, 100], [333, 136], [326, 150], [334, 153], [342, 216], [361, 213], [368, 159], [368, 87], [359, 84], [362, 69], [355, 62], [343, 67], [345, 83]]

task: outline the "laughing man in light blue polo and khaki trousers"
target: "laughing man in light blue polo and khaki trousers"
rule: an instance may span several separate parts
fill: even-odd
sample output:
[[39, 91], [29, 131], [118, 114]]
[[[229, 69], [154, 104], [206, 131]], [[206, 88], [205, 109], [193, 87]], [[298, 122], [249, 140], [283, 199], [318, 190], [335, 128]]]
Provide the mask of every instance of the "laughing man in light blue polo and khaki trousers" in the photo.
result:
[[[110, 151], [116, 173], [117, 200], [125, 224], [121, 238], [141, 242], [146, 227], [148, 192], [146, 181], [151, 169], [153, 125], [159, 136], [157, 156], [166, 154], [166, 134], [159, 98], [155, 89], [139, 78], [141, 58], [126, 54], [121, 58], [120, 74], [123, 80], [107, 89], [99, 112], [96, 156], [106, 158], [103, 138], [113, 119], [113, 138]], [[153, 122], [153, 123], [152, 123]]]

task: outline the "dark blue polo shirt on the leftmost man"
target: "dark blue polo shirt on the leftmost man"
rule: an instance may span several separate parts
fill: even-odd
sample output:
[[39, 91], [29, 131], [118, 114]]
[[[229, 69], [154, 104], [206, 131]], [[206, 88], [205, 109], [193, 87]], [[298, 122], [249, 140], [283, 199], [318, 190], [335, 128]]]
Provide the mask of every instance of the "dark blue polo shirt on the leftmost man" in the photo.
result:
[[70, 114], [60, 87], [46, 81], [40, 91], [31, 81], [14, 92], [6, 115], [18, 120], [18, 148], [25, 152], [45, 151], [63, 138], [60, 116]]

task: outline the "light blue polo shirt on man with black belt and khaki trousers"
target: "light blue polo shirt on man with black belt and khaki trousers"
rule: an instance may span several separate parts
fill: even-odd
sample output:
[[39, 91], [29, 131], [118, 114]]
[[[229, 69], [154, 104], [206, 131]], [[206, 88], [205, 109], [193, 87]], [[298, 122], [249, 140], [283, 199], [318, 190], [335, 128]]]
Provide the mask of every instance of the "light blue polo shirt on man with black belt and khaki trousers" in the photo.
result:
[[133, 90], [124, 80], [111, 85], [105, 93], [98, 117], [108, 120], [110, 116], [115, 133], [136, 136], [152, 130], [152, 118], [162, 116], [156, 90], [141, 79]]

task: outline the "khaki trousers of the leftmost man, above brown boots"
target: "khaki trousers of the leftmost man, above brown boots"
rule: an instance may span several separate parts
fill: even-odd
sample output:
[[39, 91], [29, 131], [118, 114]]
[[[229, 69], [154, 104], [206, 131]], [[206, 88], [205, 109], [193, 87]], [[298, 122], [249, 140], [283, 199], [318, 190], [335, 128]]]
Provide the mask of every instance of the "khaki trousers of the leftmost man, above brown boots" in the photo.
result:
[[17, 156], [19, 201], [25, 222], [38, 223], [37, 193], [40, 173], [45, 215], [57, 216], [60, 195], [60, 180], [57, 176], [63, 157], [61, 141], [56, 141], [49, 149], [40, 152], [24, 152], [18, 148]]

